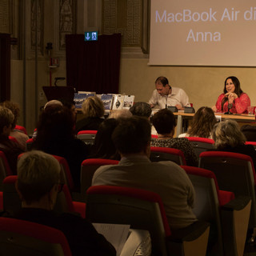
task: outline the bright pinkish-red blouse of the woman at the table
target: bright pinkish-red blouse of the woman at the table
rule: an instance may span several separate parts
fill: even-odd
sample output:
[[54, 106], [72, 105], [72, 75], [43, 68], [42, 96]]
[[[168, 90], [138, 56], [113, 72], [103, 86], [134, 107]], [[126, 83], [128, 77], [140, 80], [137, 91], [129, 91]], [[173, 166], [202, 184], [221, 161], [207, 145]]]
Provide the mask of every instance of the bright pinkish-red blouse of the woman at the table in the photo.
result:
[[[228, 111], [227, 105], [228, 101], [225, 102], [222, 110], [222, 98], [225, 97], [225, 94], [220, 94], [218, 96], [218, 100], [216, 102], [216, 108], [219, 113], [225, 113]], [[250, 98], [247, 94], [242, 93], [239, 98], [235, 98], [233, 102], [233, 106], [230, 109], [230, 112], [237, 114], [247, 114], [247, 106], [250, 106]]]

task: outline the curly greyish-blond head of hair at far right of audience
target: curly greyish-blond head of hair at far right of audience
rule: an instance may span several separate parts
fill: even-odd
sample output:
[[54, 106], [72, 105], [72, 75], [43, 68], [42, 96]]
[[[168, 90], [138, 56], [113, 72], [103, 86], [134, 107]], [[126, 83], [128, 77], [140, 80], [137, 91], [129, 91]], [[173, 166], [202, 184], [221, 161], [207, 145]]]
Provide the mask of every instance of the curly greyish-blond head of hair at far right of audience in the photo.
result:
[[238, 122], [231, 119], [214, 125], [213, 139], [217, 149], [223, 149], [226, 146], [234, 147], [246, 142], [246, 137], [242, 134]]

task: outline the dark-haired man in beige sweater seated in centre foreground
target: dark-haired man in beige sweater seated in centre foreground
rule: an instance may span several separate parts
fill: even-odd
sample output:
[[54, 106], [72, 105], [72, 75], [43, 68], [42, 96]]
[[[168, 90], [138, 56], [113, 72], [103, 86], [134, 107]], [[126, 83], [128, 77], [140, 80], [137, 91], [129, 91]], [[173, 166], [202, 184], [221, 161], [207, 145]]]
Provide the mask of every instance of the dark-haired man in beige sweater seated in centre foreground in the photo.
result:
[[197, 221], [192, 212], [194, 187], [185, 170], [174, 162], [150, 162], [150, 131], [146, 118], [123, 119], [112, 134], [121, 161], [98, 168], [92, 185], [151, 190], [161, 196], [172, 230], [189, 226]]

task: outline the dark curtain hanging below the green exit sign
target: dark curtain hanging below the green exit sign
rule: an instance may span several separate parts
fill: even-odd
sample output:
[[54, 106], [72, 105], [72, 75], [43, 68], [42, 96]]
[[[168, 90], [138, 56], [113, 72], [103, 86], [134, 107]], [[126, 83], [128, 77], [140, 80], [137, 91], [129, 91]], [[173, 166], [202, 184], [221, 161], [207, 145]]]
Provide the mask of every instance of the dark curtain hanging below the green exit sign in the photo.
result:
[[121, 34], [102, 34], [84, 41], [83, 34], [66, 35], [66, 82], [76, 91], [118, 94]]

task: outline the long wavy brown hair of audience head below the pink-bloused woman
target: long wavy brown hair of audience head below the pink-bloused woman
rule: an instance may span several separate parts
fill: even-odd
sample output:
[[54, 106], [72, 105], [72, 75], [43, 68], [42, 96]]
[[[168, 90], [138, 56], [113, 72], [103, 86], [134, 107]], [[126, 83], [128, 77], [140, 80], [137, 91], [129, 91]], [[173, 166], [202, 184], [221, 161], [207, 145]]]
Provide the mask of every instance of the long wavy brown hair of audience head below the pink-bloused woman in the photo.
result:
[[194, 114], [188, 134], [190, 134], [190, 137], [210, 138], [216, 122], [214, 110], [210, 107], [202, 106]]

